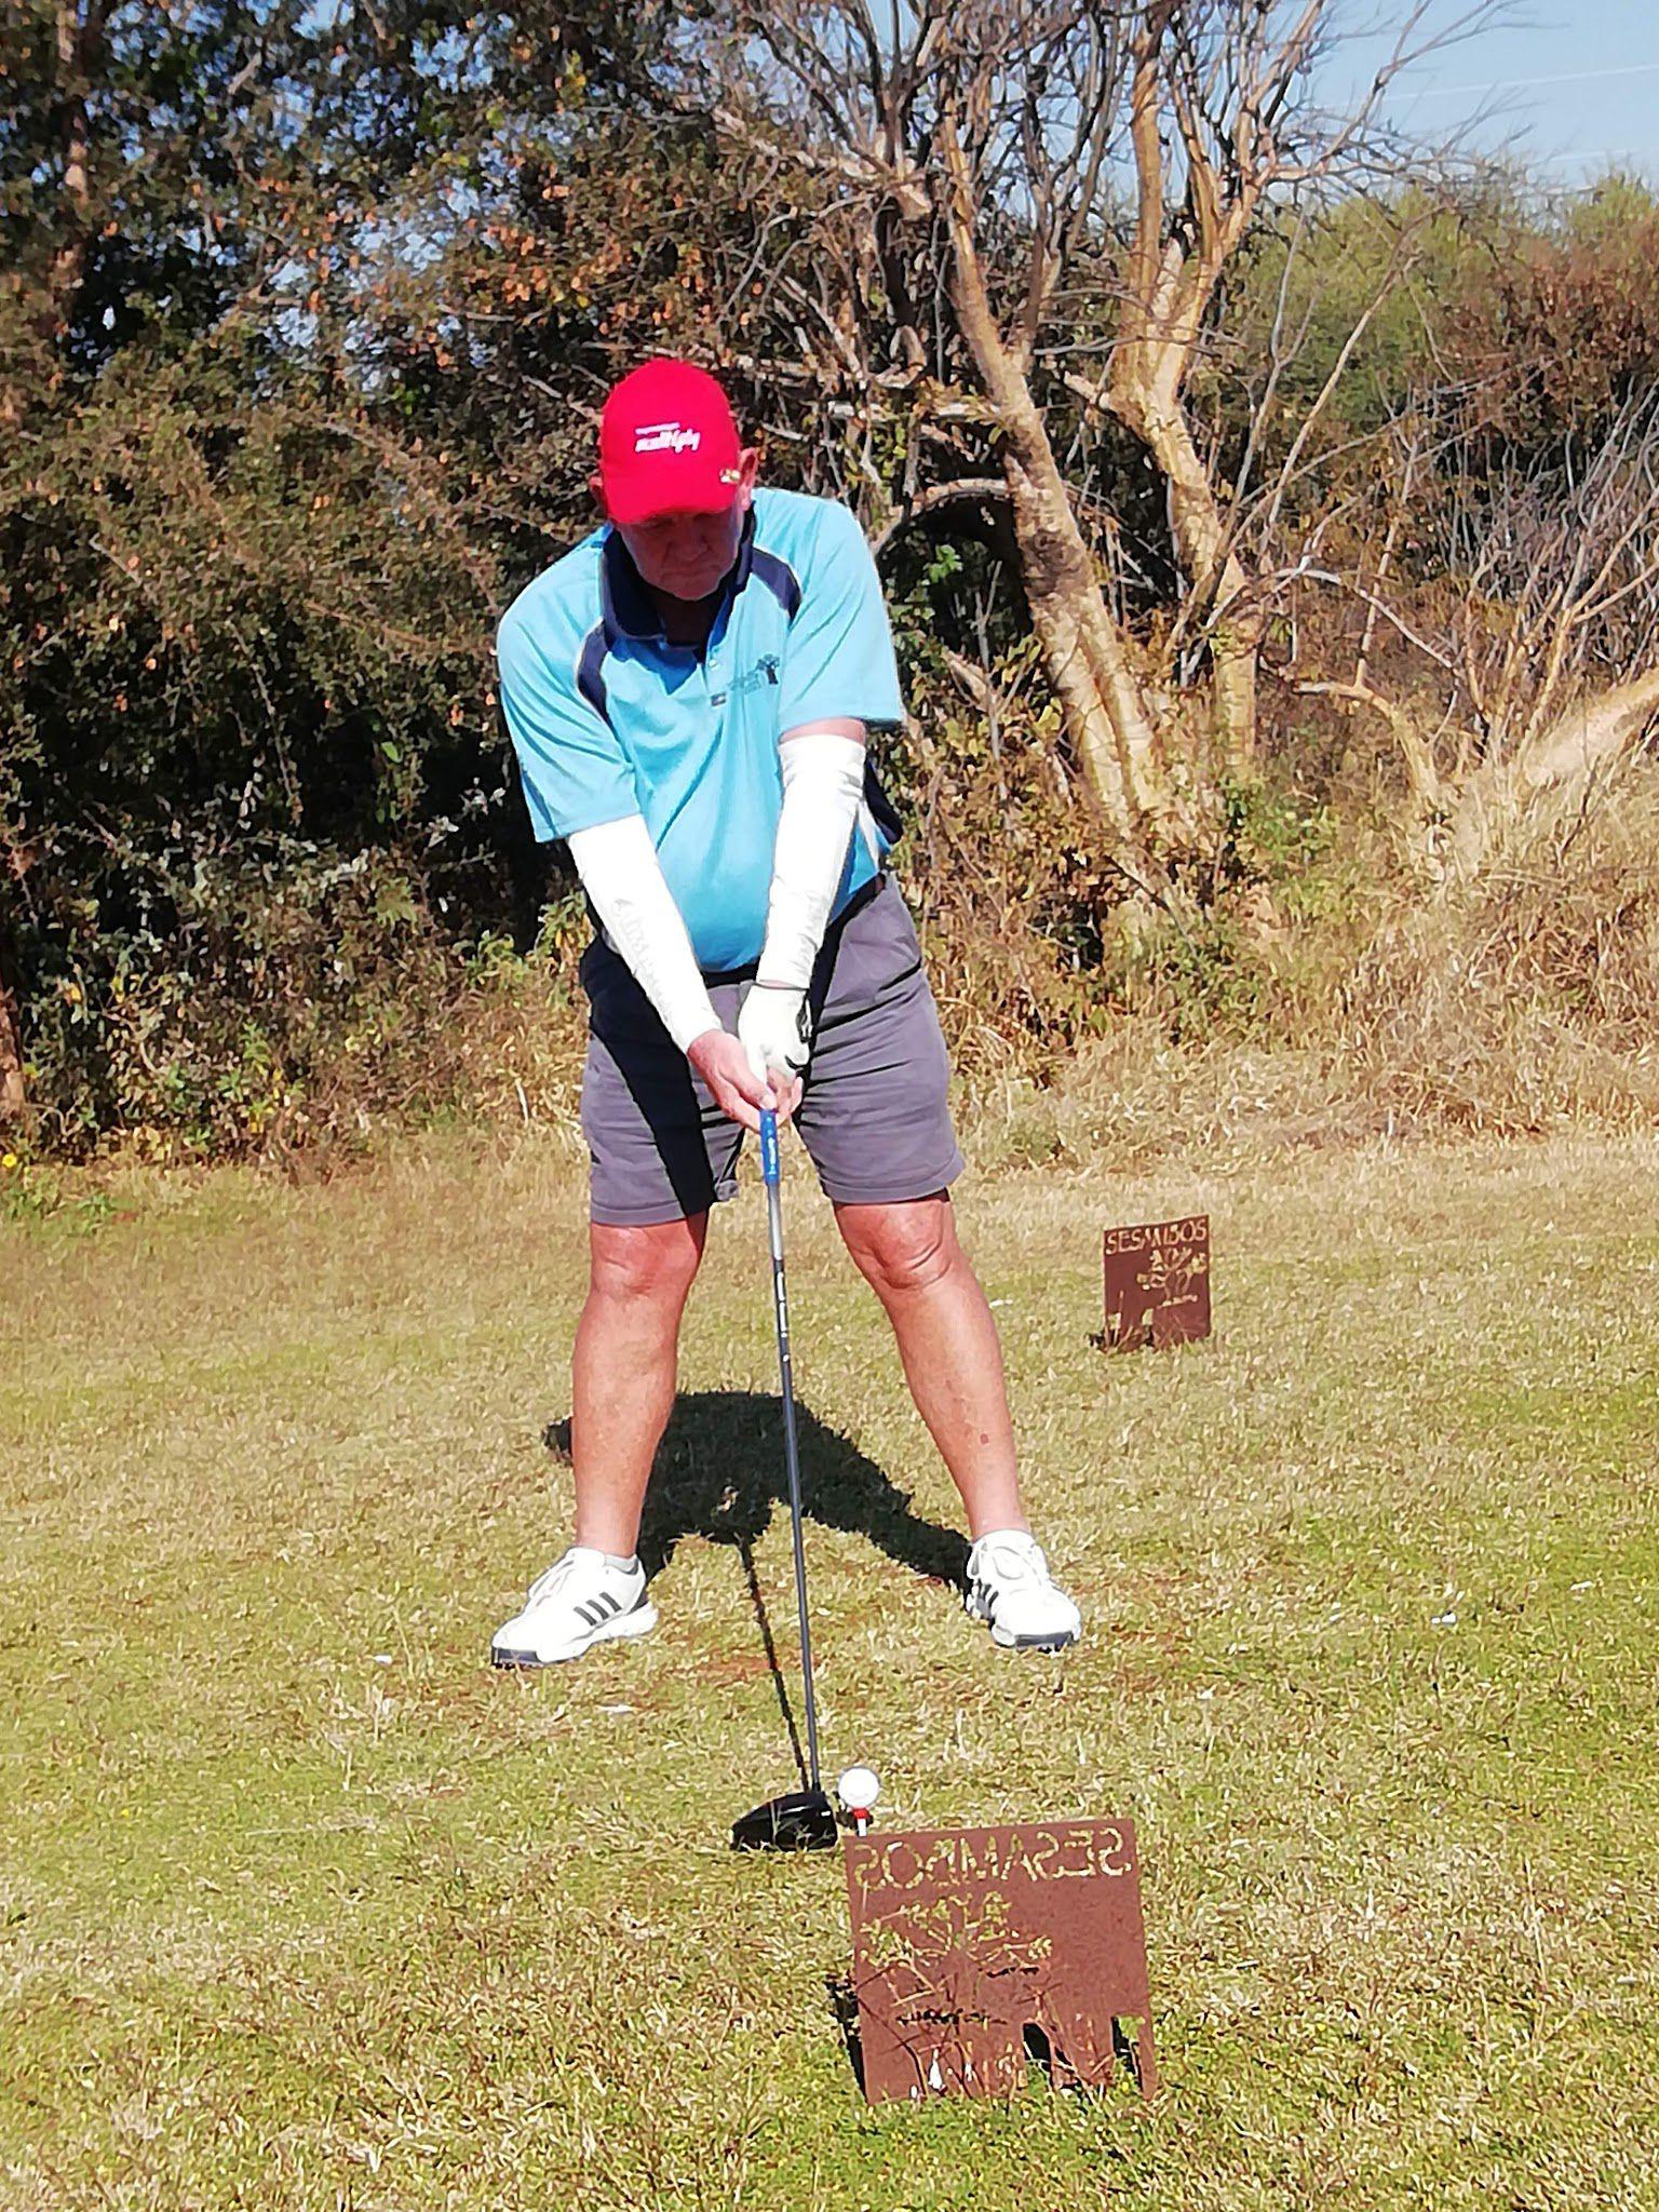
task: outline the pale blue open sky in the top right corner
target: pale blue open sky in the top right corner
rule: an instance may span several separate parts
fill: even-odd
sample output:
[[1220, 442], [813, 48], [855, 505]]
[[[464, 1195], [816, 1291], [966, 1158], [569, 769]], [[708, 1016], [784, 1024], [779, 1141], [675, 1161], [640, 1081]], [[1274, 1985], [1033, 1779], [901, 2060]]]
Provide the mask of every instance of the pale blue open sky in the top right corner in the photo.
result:
[[[1407, 9], [1345, 13], [1387, 22]], [[1458, 13], [1467, 7], [1447, 0], [1436, 20]], [[1358, 38], [1338, 49], [1325, 64], [1327, 86], [1376, 66], [1387, 44]], [[1478, 144], [1513, 144], [1540, 181], [1575, 188], [1624, 168], [1659, 184], [1659, 0], [1517, 4], [1400, 77], [1391, 100], [1394, 115], [1429, 139], [1469, 126], [1482, 108]]]

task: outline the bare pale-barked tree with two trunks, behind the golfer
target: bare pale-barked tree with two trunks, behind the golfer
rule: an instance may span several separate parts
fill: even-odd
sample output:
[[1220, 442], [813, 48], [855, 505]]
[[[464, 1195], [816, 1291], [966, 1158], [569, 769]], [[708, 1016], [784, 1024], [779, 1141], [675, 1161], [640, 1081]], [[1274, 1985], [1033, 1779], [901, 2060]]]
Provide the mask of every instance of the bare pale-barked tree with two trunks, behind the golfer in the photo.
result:
[[[1363, 97], [1327, 117], [1310, 73], [1336, 13], [1338, 0], [922, 0], [878, 22], [869, 0], [739, 0], [714, 100], [734, 144], [825, 184], [812, 263], [774, 281], [847, 409], [902, 409], [916, 431], [902, 513], [883, 529], [984, 500], [995, 462], [1071, 750], [1113, 852], [1161, 896], [1203, 841], [1214, 774], [1252, 770], [1263, 613], [1285, 566], [1270, 531], [1245, 535], [1243, 487], [1194, 434], [1186, 387], [1252, 230], [1296, 192], [1398, 177], [1385, 93], [1436, 42], [1425, 0]], [[1475, 0], [1438, 35], [1480, 13]], [[1276, 400], [1270, 380], [1261, 409]], [[1203, 692], [1117, 613], [1110, 533], [1062, 458], [1077, 405], [1124, 422], [1164, 480], [1188, 593], [1177, 641], [1208, 668]], [[1305, 420], [1292, 471], [1310, 434]], [[918, 480], [918, 451], [949, 473]], [[1259, 498], [1250, 515], [1276, 524], [1279, 504]]]

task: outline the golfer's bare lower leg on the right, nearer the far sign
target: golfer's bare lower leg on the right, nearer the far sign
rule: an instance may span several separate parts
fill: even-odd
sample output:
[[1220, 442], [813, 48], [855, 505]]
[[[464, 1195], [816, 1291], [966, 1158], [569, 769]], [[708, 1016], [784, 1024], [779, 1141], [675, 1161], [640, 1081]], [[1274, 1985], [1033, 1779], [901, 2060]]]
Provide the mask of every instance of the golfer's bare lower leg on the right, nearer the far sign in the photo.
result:
[[1002, 1345], [949, 1197], [836, 1206], [836, 1225], [887, 1310], [916, 1411], [949, 1467], [969, 1535], [1029, 1528], [1020, 1504]]

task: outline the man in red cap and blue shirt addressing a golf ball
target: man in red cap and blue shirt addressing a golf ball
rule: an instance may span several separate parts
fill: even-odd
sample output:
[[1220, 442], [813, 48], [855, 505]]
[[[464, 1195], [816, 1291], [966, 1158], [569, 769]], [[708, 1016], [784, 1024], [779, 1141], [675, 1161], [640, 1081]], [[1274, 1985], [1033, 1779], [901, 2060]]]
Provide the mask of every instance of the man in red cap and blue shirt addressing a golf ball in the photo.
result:
[[865, 732], [902, 701], [876, 564], [845, 507], [759, 489], [757, 467], [712, 376], [635, 369], [599, 422], [606, 522], [498, 635], [535, 834], [568, 841], [604, 931], [582, 960], [575, 1544], [495, 1632], [498, 1666], [657, 1626], [635, 1544], [679, 1316], [763, 1108], [794, 1117], [894, 1325], [967, 1509], [969, 1613], [1004, 1646], [1079, 1632], [1020, 1504], [995, 1323], [951, 1221], [945, 1040], [883, 874], [896, 825]]

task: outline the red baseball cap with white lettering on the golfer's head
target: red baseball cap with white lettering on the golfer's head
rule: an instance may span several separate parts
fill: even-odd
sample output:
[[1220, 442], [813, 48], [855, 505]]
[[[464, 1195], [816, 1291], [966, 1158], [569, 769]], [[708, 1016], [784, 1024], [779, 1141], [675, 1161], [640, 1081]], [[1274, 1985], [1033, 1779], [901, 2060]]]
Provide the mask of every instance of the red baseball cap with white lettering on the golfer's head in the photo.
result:
[[690, 361], [646, 361], [604, 403], [599, 489], [613, 522], [721, 513], [741, 465], [732, 405]]

